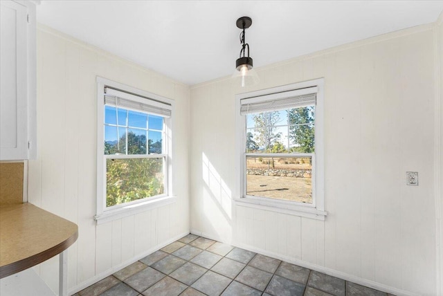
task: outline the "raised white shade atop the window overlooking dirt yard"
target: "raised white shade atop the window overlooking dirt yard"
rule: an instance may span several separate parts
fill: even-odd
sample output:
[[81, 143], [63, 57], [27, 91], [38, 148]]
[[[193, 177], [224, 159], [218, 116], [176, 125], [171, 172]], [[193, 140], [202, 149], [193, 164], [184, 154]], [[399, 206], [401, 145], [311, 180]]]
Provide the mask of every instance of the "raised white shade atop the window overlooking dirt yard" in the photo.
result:
[[307, 107], [316, 104], [317, 87], [284, 91], [241, 100], [241, 115], [266, 111]]

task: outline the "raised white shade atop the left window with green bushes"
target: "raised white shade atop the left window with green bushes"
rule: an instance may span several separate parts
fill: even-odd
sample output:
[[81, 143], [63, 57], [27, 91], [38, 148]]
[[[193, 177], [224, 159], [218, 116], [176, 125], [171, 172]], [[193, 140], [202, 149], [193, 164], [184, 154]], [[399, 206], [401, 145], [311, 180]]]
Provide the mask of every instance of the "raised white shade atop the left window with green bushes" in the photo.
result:
[[105, 104], [136, 111], [145, 111], [166, 118], [171, 116], [172, 110], [170, 104], [117, 91], [116, 89], [109, 89], [109, 87], [105, 87]]

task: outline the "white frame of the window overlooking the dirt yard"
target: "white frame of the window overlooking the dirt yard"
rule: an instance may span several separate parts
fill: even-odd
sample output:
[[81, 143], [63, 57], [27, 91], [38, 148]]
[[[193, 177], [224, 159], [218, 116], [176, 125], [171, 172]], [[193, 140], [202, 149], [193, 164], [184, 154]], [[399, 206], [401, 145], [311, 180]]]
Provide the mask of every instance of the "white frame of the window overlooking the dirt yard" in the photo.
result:
[[[240, 114], [242, 100], [257, 101], [266, 96], [273, 100], [285, 98], [284, 92], [299, 91], [316, 87], [315, 105], [315, 152], [313, 154], [278, 154], [282, 157], [312, 156], [312, 203], [284, 201], [280, 199], [250, 196], [246, 194], [246, 158], [251, 156], [246, 152], [246, 115]], [[255, 207], [273, 212], [305, 216], [312, 219], [325, 220], [325, 194], [324, 194], [324, 79], [310, 80], [295, 84], [277, 86], [249, 93], [235, 95], [236, 127], [237, 127], [237, 178], [234, 201], [237, 205]], [[252, 154], [257, 156], [257, 154]], [[260, 154], [260, 156], [275, 156], [275, 154]]]

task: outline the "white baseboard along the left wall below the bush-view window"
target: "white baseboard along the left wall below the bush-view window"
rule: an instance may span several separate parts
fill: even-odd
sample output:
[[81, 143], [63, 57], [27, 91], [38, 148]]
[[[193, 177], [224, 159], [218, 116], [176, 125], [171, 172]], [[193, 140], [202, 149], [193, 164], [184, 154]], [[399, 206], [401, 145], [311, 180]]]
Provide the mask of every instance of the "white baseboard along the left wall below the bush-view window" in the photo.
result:
[[187, 234], [189, 234], [189, 232], [183, 232], [183, 233], [177, 235], [176, 237], [172, 237], [172, 239], [169, 239], [168, 241], [160, 243], [159, 245], [157, 245], [153, 248], [150, 248], [149, 250], [146, 250], [145, 252], [143, 252], [141, 254], [138, 254], [136, 257], [133, 257], [132, 259], [129, 259], [125, 262], [118, 264], [118, 266], [114, 266], [109, 270], [106, 270], [104, 272], [100, 272], [100, 274], [96, 275], [95, 277], [92, 277], [91, 279], [88, 279], [87, 281], [84, 281], [81, 284], [69, 289], [68, 294], [74, 295], [75, 293], [78, 293], [79, 291], [83, 290], [84, 288], [87, 288], [93, 284], [96, 284], [96, 282], [101, 281], [102, 279], [105, 279], [105, 277], [109, 277], [109, 275], [114, 274], [118, 270], [125, 268], [126, 266], [129, 266], [132, 263], [134, 263], [140, 259], [143, 259], [144, 257], [152, 254], [156, 250], [160, 250], [161, 248], [168, 246], [170, 243], [177, 241], [177, 239], [181, 239], [182, 237], [186, 236]]

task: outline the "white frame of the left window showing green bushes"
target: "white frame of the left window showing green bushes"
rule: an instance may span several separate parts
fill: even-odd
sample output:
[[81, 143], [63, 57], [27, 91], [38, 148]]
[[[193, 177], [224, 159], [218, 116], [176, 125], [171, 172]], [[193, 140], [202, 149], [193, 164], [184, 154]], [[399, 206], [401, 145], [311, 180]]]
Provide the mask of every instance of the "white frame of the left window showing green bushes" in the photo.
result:
[[[169, 203], [174, 203], [176, 197], [172, 192], [172, 116], [174, 114], [174, 101], [168, 98], [164, 98], [160, 95], [154, 93], [149, 93], [147, 91], [142, 91], [136, 89], [132, 86], [127, 86], [119, 82], [114, 82], [107, 80], [102, 77], [97, 77], [97, 208], [96, 215], [94, 219], [98, 224], [105, 223], [108, 221], [113, 221], [115, 219], [120, 219], [125, 216], [136, 214], [138, 212], [143, 212], [149, 210], [150, 208], [160, 207], [162, 205], [167, 205]], [[163, 137], [162, 141], [162, 154], [134, 154], [134, 155], [106, 155], [105, 147], [103, 141], [105, 139], [105, 88], [115, 89], [121, 91], [127, 95], [125, 99], [127, 100], [140, 100], [145, 98], [146, 100], [151, 100], [152, 105], [155, 104], [168, 104], [170, 105], [171, 116], [163, 116]], [[134, 101], [136, 102], [136, 101]], [[145, 104], [150, 104], [150, 102], [145, 102]], [[150, 113], [148, 111], [136, 110], [132, 108], [123, 107], [124, 109], [141, 111], [144, 113]], [[156, 115], [156, 114], [154, 114]], [[146, 147], [148, 149], [148, 147]], [[111, 157], [112, 156], [112, 157]], [[120, 205], [113, 205], [111, 207], [106, 206], [106, 160], [107, 158], [163, 158], [163, 178], [165, 184], [165, 192], [157, 196], [152, 196], [149, 198], [142, 198], [136, 201], [130, 201], [129, 203], [122, 203]]]

